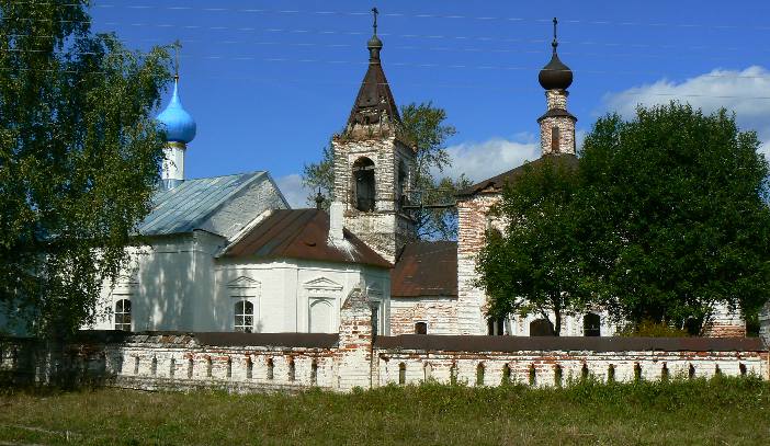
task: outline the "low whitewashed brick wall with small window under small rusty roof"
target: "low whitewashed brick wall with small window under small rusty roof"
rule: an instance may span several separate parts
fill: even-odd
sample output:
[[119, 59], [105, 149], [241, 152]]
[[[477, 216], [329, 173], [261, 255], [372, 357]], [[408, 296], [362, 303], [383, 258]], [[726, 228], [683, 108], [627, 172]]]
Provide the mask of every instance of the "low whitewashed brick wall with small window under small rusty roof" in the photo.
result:
[[428, 334], [457, 333], [457, 298], [390, 297], [390, 334], [415, 333], [415, 323], [428, 323]]

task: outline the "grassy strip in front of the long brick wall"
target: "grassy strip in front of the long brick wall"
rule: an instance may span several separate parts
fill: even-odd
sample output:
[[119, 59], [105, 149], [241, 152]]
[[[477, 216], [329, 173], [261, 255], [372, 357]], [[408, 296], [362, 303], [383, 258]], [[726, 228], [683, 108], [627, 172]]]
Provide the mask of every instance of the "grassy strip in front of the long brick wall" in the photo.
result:
[[424, 385], [351, 394], [0, 391], [0, 444], [770, 444], [770, 384]]

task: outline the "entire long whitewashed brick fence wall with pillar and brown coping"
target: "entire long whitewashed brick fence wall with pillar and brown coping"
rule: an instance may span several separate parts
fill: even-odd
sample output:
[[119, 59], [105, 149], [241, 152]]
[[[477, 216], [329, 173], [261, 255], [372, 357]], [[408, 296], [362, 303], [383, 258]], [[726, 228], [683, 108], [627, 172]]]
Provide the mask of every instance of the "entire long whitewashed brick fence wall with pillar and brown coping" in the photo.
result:
[[[567, 385], [756, 375], [768, 353], [757, 339], [380, 336], [365, 300], [350, 299], [338, 334], [143, 333], [69, 345], [52, 358], [30, 343], [0, 342], [0, 375], [43, 380], [46, 368], [133, 389], [234, 392], [349, 391], [426, 380], [472, 386]], [[103, 335], [105, 332], [101, 332]], [[109, 338], [109, 336], [107, 336]], [[41, 347], [39, 345], [37, 346]], [[54, 362], [54, 365], [41, 361]]]

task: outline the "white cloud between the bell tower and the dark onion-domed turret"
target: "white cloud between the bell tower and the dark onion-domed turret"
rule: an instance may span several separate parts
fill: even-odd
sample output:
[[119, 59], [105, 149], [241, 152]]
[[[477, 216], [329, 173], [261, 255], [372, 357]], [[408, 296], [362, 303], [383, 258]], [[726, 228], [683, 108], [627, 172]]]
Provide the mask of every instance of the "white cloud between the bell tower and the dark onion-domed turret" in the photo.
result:
[[[525, 139], [524, 139], [525, 138]], [[540, 157], [540, 145], [532, 135], [522, 141], [491, 138], [482, 142], [462, 142], [446, 148], [452, 167], [443, 175], [458, 178], [465, 173], [473, 182], [486, 180]]]

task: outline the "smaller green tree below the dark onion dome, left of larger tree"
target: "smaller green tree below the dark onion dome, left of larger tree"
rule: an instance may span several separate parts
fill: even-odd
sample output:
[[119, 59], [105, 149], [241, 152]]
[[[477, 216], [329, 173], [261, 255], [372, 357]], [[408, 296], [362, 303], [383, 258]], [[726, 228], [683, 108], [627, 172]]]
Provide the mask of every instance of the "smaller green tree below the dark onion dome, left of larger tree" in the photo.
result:
[[525, 164], [492, 206], [503, 228], [487, 231], [476, 266], [489, 316], [537, 315], [558, 335], [564, 316], [590, 302], [576, 164], [571, 157]]

